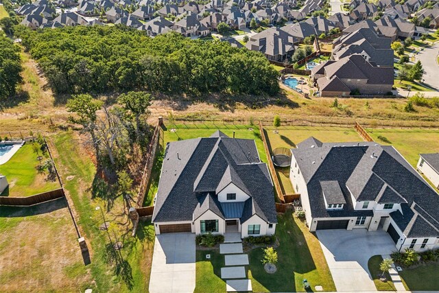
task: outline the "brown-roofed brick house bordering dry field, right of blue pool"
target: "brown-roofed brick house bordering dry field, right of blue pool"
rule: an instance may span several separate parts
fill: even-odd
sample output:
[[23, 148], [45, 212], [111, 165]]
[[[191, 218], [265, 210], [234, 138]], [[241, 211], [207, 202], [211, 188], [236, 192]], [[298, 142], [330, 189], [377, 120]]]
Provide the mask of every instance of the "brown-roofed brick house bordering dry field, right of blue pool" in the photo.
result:
[[376, 67], [361, 54], [326, 62], [311, 69], [320, 96], [345, 96], [358, 90], [361, 95], [386, 95], [392, 91], [393, 67]]

